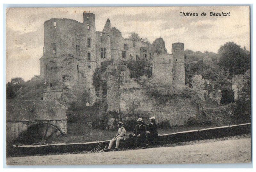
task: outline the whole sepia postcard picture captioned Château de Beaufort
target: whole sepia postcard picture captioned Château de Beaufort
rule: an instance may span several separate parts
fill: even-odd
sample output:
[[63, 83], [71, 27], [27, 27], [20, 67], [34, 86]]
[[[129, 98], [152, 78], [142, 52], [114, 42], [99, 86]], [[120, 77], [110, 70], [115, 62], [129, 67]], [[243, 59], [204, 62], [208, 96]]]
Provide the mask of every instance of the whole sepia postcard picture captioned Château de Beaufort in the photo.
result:
[[251, 163], [250, 6], [5, 10], [7, 166]]

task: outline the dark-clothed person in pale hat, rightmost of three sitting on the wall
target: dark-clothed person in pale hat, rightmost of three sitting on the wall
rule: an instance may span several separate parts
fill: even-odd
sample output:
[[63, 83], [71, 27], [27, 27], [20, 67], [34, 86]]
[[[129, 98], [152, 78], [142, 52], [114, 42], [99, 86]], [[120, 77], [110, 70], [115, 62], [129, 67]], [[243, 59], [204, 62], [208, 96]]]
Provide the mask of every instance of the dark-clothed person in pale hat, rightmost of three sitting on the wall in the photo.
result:
[[151, 145], [158, 137], [158, 131], [157, 131], [158, 126], [156, 124], [156, 118], [150, 117], [149, 119], [150, 119], [150, 122], [149, 122], [149, 125], [147, 126], [147, 131], [146, 131], [146, 138], [148, 142], [146, 147]]

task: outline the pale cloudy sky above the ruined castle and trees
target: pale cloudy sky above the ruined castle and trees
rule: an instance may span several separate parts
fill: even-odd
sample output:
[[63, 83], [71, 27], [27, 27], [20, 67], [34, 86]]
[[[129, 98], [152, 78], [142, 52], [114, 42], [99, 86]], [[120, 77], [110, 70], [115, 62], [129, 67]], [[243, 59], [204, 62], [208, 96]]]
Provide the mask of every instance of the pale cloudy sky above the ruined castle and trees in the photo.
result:
[[[183, 42], [192, 51], [218, 52], [226, 42], [250, 49], [248, 6], [207, 7], [79, 7], [9, 8], [6, 10], [6, 82], [22, 77], [25, 81], [40, 75], [43, 55], [44, 22], [51, 18], [70, 18], [83, 22], [83, 12], [96, 16], [96, 30], [102, 31], [107, 18], [128, 38], [132, 32], [152, 43], [162, 37], [168, 53], [172, 43]], [[180, 16], [180, 13], [198, 16]], [[201, 16], [201, 13], [207, 13]], [[230, 16], [209, 16], [210, 12]]]

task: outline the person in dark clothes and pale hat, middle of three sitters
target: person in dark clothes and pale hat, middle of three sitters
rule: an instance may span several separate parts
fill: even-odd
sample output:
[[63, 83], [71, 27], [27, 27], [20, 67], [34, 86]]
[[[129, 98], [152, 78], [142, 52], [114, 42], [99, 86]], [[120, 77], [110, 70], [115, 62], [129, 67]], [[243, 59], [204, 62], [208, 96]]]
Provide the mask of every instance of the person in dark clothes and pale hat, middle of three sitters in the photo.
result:
[[133, 130], [133, 138], [135, 141], [133, 147], [141, 146], [146, 138], [146, 126], [143, 125], [142, 118], [138, 118], [137, 120], [137, 125]]

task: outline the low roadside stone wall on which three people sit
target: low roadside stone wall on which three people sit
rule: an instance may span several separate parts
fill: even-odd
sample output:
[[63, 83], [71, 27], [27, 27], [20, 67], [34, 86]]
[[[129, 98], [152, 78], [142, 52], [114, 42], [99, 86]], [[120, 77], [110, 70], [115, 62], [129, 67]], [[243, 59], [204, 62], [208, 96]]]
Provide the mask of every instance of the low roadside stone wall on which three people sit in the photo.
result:
[[[231, 125], [159, 135], [156, 144], [163, 145], [167, 143], [212, 139], [250, 133], [251, 123], [246, 123], [240, 125]], [[120, 143], [120, 148], [129, 147], [129, 140], [130, 138], [127, 138], [126, 140], [122, 141]], [[11, 147], [7, 147], [7, 156], [90, 151], [95, 147], [104, 148], [108, 146], [109, 141], [110, 140], [88, 143], [60, 143], [48, 145], [13, 145]]]

